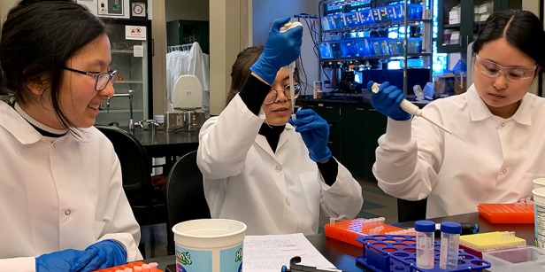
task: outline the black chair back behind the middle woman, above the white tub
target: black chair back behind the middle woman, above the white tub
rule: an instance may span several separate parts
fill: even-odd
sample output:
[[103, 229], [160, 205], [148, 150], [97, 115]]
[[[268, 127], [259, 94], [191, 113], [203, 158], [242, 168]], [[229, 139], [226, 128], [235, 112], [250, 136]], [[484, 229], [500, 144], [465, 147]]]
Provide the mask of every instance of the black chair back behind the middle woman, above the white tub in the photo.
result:
[[211, 218], [210, 209], [204, 198], [203, 174], [196, 165], [196, 151], [183, 155], [173, 166], [166, 185], [168, 209], [167, 253], [174, 253], [172, 227], [194, 219]]

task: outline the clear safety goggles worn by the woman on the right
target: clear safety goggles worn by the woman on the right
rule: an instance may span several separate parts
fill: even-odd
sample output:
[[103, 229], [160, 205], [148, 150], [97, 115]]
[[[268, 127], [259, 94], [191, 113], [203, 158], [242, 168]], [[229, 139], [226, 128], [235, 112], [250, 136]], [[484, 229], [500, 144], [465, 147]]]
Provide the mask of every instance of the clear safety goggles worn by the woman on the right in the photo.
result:
[[480, 73], [486, 75], [487, 77], [496, 78], [503, 73], [505, 78], [510, 82], [524, 81], [533, 77], [533, 72], [535, 72], [535, 69], [537, 68], [537, 64], [532, 67], [503, 67], [493, 61], [479, 58], [479, 56], [475, 56], [475, 65], [479, 69]]

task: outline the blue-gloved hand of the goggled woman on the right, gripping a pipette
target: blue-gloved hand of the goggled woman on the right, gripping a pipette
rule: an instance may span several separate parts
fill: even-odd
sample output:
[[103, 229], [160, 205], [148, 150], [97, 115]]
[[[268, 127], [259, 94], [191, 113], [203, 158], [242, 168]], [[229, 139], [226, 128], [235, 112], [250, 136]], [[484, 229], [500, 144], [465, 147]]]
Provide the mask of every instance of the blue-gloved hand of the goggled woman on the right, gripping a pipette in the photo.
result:
[[[367, 89], [371, 91], [374, 82], [367, 82]], [[379, 92], [371, 92], [371, 105], [379, 113], [382, 113], [393, 120], [410, 120], [411, 113], [407, 113], [399, 107], [405, 94], [403, 90], [390, 86], [389, 82], [380, 84]]]

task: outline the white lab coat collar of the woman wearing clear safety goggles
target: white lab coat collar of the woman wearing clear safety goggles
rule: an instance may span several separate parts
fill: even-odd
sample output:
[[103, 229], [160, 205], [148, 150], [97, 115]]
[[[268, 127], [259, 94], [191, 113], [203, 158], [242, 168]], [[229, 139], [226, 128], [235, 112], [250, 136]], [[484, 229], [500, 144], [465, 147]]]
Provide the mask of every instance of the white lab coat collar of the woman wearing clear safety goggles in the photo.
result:
[[[488, 110], [485, 102], [480, 98], [474, 84], [467, 89], [466, 96], [469, 113], [473, 121], [485, 120], [494, 116], [494, 114]], [[520, 106], [518, 106], [517, 112], [513, 114], [510, 119], [523, 125], [531, 125], [531, 109], [533, 108], [534, 100], [535, 97], [533, 97], [532, 94], [526, 93], [526, 95], [522, 97], [522, 102], [520, 103]]]

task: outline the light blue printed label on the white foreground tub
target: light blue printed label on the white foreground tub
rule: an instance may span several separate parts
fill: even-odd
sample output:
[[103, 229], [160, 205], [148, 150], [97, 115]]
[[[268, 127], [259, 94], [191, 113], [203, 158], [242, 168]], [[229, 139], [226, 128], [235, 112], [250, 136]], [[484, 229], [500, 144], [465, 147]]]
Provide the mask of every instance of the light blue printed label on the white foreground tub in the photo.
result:
[[[219, 253], [214, 263], [212, 253]], [[176, 272], [241, 272], [242, 244], [226, 249], [193, 250], [176, 245]]]

